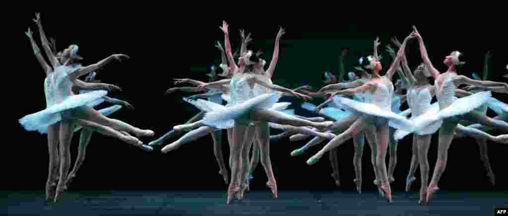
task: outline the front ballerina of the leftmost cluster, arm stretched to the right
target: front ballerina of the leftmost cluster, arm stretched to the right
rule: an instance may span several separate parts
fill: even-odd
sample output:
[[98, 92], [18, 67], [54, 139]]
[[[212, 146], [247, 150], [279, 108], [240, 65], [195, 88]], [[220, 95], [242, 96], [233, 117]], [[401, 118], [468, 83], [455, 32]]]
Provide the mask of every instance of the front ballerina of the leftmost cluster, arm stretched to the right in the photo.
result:
[[137, 136], [153, 135], [153, 131], [141, 130], [121, 121], [109, 119], [91, 107], [86, 106], [87, 103], [105, 96], [107, 91], [99, 90], [79, 95], [74, 95], [71, 91], [71, 87], [78, 77], [101, 68], [113, 59], [121, 60], [122, 58], [128, 58], [128, 56], [115, 54], [89, 66], [69, 66], [69, 63], [73, 63], [74, 60], [81, 59], [77, 55], [77, 51], [78, 47], [76, 45], [71, 45], [65, 49], [59, 58], [60, 63], [63, 64], [56, 67], [54, 73], [48, 76], [49, 91], [54, 91], [54, 104], [43, 111], [27, 115], [19, 120], [26, 130], [39, 131], [41, 133], [46, 133], [49, 125], [60, 122], [60, 177], [55, 193], [55, 201], [58, 193], [65, 190], [67, 172], [70, 168], [69, 147], [73, 133], [71, 129], [75, 122], [83, 127], [90, 127], [94, 131], [104, 135], [117, 137], [137, 147], [142, 147], [141, 141], [117, 130], [133, 132]]

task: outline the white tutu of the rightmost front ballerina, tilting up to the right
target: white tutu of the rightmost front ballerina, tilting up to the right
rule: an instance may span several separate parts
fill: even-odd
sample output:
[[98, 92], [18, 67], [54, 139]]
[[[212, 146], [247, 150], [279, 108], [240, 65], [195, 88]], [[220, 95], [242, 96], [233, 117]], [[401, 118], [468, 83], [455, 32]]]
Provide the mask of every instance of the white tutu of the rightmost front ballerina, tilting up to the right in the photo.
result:
[[491, 92], [479, 92], [467, 97], [458, 98], [450, 106], [437, 112], [436, 109], [432, 108], [412, 120], [415, 127], [412, 130], [408, 130], [408, 132], [423, 131], [430, 124], [439, 120], [469, 113], [486, 103], [489, 98], [491, 98]]

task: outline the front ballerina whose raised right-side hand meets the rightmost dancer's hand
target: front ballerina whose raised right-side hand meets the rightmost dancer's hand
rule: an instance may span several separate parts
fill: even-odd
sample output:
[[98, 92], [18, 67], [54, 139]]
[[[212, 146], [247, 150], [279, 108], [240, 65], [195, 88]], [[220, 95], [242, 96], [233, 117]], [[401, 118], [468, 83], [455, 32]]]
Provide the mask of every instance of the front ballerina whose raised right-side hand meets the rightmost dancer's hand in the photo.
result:
[[[332, 139], [321, 151], [307, 160], [307, 164], [309, 165], [316, 163], [324, 153], [336, 148], [347, 139], [368, 128], [368, 125], [373, 125], [376, 134], [375, 143], [377, 145], [376, 171], [378, 172], [378, 176], [380, 178], [380, 188], [384, 191], [385, 197], [390, 202], [392, 195], [385, 164], [386, 151], [389, 142], [389, 121], [391, 122], [392, 127], [413, 127], [410, 121], [391, 112], [391, 102], [393, 98], [393, 84], [391, 80], [395, 69], [402, 58], [406, 43], [411, 38], [411, 35], [409, 35], [406, 39], [404, 39], [404, 42], [397, 53], [397, 57], [394, 59], [385, 76], [379, 75], [379, 71], [382, 69], [382, 66], [377, 60], [376, 46], [374, 46], [374, 57], [368, 56], [366, 58], [360, 58], [359, 63], [362, 69], [367, 70], [368, 73], [372, 74], [371, 80], [360, 87], [341, 90], [334, 94], [342, 95], [358, 92], [372, 92], [372, 104], [357, 102], [342, 97], [335, 97], [334, 102], [337, 104], [347, 106], [349, 109], [357, 110], [363, 114], [351, 125], [350, 128]], [[376, 182], [376, 185], [378, 184], [379, 182]]]

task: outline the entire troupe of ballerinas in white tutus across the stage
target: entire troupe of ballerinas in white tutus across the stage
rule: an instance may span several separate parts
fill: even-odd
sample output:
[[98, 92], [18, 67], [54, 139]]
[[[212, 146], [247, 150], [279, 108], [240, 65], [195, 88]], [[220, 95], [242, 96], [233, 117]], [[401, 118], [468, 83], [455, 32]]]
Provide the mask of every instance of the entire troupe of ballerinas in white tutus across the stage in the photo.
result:
[[[38, 25], [41, 42], [49, 63], [44, 60], [31, 31], [26, 35], [30, 39], [34, 53], [46, 72], [44, 89], [47, 107], [43, 111], [27, 115], [19, 120], [28, 131], [39, 131], [48, 134], [49, 171], [46, 183], [47, 199], [58, 198], [75, 178], [83, 163], [86, 147], [93, 131], [116, 137], [130, 145], [145, 151], [152, 151], [155, 146], [162, 146], [172, 137], [182, 135], [176, 141], [165, 145], [162, 153], [176, 150], [182, 145], [210, 134], [213, 139], [214, 155], [219, 165], [219, 173], [228, 187], [227, 204], [233, 199], [243, 199], [253, 180], [253, 171], [261, 162], [273, 196], [277, 197], [277, 184], [270, 160], [270, 142], [281, 138], [299, 141], [313, 137], [306, 145], [291, 153], [292, 157], [304, 154], [310, 147], [327, 140], [328, 143], [307, 160], [308, 165], [315, 164], [327, 152], [333, 167], [332, 177], [340, 185], [336, 147], [353, 138], [355, 145], [354, 167], [356, 189], [362, 188], [362, 155], [365, 139], [372, 150], [372, 167], [375, 174], [374, 184], [379, 193], [392, 201], [390, 183], [395, 179], [393, 173], [397, 164], [397, 142], [408, 134], [412, 138], [412, 159], [406, 178], [406, 191], [416, 177], [416, 168], [421, 170], [421, 205], [428, 205], [432, 194], [438, 190], [439, 179], [447, 164], [448, 149], [453, 138], [471, 136], [477, 139], [482, 160], [488, 171], [492, 184], [495, 178], [487, 156], [487, 140], [508, 143], [508, 135], [494, 136], [487, 132], [493, 130], [508, 131], [508, 105], [493, 98], [491, 92], [507, 93], [508, 84], [488, 81], [488, 60], [485, 59], [483, 78], [474, 74], [470, 79], [460, 75], [465, 65], [464, 55], [453, 51], [444, 58], [448, 70], [440, 73], [430, 61], [424, 41], [416, 27], [401, 42], [393, 38], [392, 43], [398, 48], [387, 46], [393, 61], [382, 73], [383, 67], [378, 55], [379, 40], [373, 44], [373, 54], [361, 57], [358, 66], [350, 73], [345, 73], [343, 57], [348, 54], [343, 49], [339, 59], [339, 76], [331, 72], [323, 74], [326, 86], [319, 91], [312, 91], [310, 86], [288, 89], [272, 83], [275, 67], [279, 58], [279, 43], [284, 34], [280, 28], [275, 39], [273, 56], [267, 69], [262, 52], [254, 53], [248, 49], [252, 41], [250, 34], [240, 31], [241, 47], [233, 53], [229, 40], [229, 25], [224, 22], [220, 29], [224, 32], [224, 47], [217, 42], [222, 63], [211, 67], [207, 74], [208, 82], [192, 79], [175, 79], [175, 85], [188, 84], [190, 87], [174, 87], [166, 93], [176, 91], [190, 92], [194, 95], [183, 100], [193, 104], [199, 110], [196, 116], [186, 123], [176, 125], [173, 130], [160, 138], [144, 145], [137, 137], [153, 136], [151, 130], [143, 130], [110, 119], [106, 116], [121, 109], [132, 108], [126, 101], [110, 98], [108, 91], [119, 87], [101, 83], [94, 79], [97, 69], [111, 60], [129, 58], [115, 54], [98, 63], [82, 66], [82, 59], [77, 54], [78, 46], [71, 45], [61, 52], [56, 51], [54, 40], [48, 41], [42, 29], [39, 14], [34, 19]], [[406, 44], [417, 40], [420, 46], [421, 63], [414, 71], [408, 66], [405, 56]], [[218, 70], [222, 73], [217, 73]], [[508, 66], [507, 66], [508, 69]], [[398, 80], [395, 82], [394, 75]], [[84, 81], [78, 78], [88, 75]], [[346, 79], [346, 77], [348, 79]], [[434, 84], [429, 78], [435, 80]], [[395, 83], [395, 85], [394, 85]], [[467, 85], [459, 89], [461, 85]], [[326, 101], [319, 105], [309, 102], [301, 103], [302, 109], [315, 112], [321, 117], [303, 117], [288, 109], [291, 102], [278, 102], [283, 95], [310, 100], [324, 97]], [[437, 102], [431, 103], [433, 96]], [[93, 107], [103, 102], [115, 105], [102, 110]], [[401, 104], [407, 102], [409, 109], [401, 111]], [[226, 105], [223, 105], [226, 104]], [[486, 115], [491, 109], [497, 117]], [[410, 117], [409, 117], [410, 115]], [[270, 128], [282, 130], [270, 135]], [[69, 172], [70, 143], [74, 132], [81, 130], [78, 159]], [[230, 147], [229, 168], [222, 153], [222, 131], [226, 129]], [[438, 133], [438, 157], [430, 183], [427, 153], [431, 136]], [[131, 135], [133, 134], [133, 135]], [[386, 166], [387, 152], [390, 155], [389, 166]]]

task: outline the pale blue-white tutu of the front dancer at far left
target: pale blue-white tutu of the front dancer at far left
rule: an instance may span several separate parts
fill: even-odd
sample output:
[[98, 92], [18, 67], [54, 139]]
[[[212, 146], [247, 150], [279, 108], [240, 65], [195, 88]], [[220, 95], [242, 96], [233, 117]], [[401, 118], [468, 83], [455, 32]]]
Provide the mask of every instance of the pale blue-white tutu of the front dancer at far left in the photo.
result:
[[85, 94], [72, 95], [64, 99], [62, 102], [56, 103], [46, 109], [34, 114], [24, 116], [19, 119], [19, 123], [27, 131], [39, 131], [44, 134], [48, 132], [48, 126], [61, 121], [62, 112], [75, 109], [77, 107], [92, 103], [108, 94], [107, 91], [99, 90], [92, 91]]

